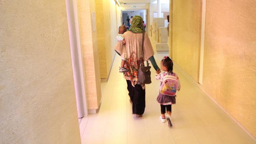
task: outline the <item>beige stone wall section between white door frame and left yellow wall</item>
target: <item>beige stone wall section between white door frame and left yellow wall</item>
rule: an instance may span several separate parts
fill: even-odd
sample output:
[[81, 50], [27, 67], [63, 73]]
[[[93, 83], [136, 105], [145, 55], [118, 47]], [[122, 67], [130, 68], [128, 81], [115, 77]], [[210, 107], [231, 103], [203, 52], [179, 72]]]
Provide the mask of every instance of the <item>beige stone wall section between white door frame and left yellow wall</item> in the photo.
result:
[[[93, 31], [92, 13], [95, 14], [94, 0], [78, 0], [87, 104], [88, 109], [98, 109], [101, 100], [100, 66], [97, 32]], [[96, 27], [96, 19], [94, 24]]]

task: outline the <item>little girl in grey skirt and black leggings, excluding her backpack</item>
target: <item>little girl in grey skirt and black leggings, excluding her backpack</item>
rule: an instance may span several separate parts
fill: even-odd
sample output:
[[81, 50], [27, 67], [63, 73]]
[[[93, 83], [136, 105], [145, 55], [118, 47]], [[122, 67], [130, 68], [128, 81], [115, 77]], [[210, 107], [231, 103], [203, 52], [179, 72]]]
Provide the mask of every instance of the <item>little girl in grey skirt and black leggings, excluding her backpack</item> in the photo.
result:
[[[172, 72], [172, 68], [173, 68], [172, 60], [168, 56], [164, 56], [164, 58], [161, 61], [161, 70], [163, 70], [164, 72], [162, 74], [158, 72], [156, 74], [156, 80], [160, 80], [162, 84], [164, 76], [166, 75], [175, 76], [176, 79], [178, 80], [177, 90], [180, 90], [180, 80], [178, 78], [178, 75]], [[158, 101], [158, 103], [160, 103], [160, 106], [161, 106], [161, 114], [162, 114], [160, 116], [161, 122], [166, 122], [166, 119], [167, 119], [168, 126], [172, 126], [172, 122], [171, 122], [172, 104], [176, 103], [176, 96], [167, 96], [167, 95], [160, 94], [159, 92], [156, 100]], [[165, 117], [165, 112], [166, 112], [165, 109], [168, 114], [167, 118]]]

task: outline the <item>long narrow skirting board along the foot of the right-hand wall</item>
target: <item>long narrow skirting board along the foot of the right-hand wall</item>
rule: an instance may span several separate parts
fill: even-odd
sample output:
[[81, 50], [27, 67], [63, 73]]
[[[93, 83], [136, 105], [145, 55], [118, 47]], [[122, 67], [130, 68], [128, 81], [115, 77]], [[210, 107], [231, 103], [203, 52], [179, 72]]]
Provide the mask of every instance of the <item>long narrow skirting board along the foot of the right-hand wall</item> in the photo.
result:
[[188, 77], [194, 84], [196, 84], [196, 86], [198, 86], [200, 90], [202, 90], [212, 101], [214, 101], [220, 107], [220, 109], [222, 109], [238, 126], [240, 126], [240, 128], [242, 128], [242, 130], [244, 130], [246, 134], [248, 134], [248, 136], [250, 136], [250, 138], [252, 138], [252, 140], [256, 142], [256, 138], [246, 128], [244, 128], [244, 126], [242, 126], [240, 122], [238, 122], [231, 114], [229, 114], [228, 111], [224, 109], [214, 98], [212, 98], [212, 96], [210, 96], [210, 94], [204, 90], [201, 84], [199, 84], [191, 76], [189, 76], [188, 73], [185, 70], [183, 70], [176, 62], [174, 62], [174, 64], [176, 68], [182, 71], [186, 77]]

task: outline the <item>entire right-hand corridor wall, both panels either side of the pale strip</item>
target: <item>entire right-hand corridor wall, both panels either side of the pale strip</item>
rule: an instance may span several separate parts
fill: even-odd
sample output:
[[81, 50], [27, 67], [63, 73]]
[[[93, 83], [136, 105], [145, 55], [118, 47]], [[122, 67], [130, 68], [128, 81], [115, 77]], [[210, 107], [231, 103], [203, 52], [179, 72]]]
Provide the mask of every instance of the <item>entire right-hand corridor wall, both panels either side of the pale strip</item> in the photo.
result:
[[[197, 81], [200, 1], [180, 0], [171, 4], [172, 0], [170, 50], [173, 59]], [[253, 136], [256, 136], [255, 5], [253, 0], [206, 1], [202, 82], [206, 92]]]

